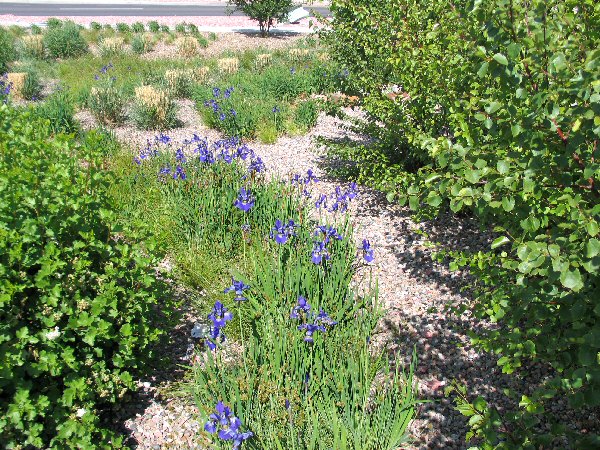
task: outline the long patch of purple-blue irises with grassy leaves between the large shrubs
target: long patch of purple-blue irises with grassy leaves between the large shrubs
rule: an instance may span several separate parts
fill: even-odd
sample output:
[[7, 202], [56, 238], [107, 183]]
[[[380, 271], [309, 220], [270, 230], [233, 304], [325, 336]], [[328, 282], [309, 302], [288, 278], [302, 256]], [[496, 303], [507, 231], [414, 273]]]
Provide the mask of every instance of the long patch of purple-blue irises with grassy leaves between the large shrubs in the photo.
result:
[[[174, 151], [160, 135], [129, 161], [120, 191], [129, 220], [157, 223], [163, 236], [168, 224], [172, 248], [229, 261], [229, 277], [202, 286], [214, 307], [195, 335], [204, 349], [193, 393], [207, 437], [253, 449], [401, 445], [415, 413], [412, 371], [372, 354], [381, 311], [349, 287], [357, 264], [373, 260], [344, 216], [355, 186], [309, 200], [312, 171], [266, 181], [260, 157], [237, 138], [194, 136]], [[233, 358], [224, 357], [226, 334], [239, 336]]]

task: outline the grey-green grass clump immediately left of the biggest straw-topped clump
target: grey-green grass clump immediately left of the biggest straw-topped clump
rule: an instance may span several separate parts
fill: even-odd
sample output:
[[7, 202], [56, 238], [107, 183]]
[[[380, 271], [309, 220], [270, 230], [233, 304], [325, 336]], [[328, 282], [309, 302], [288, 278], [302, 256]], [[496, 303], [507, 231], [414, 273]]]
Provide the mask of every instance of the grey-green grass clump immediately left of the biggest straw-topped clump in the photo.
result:
[[127, 98], [123, 89], [118, 86], [117, 79], [111, 74], [112, 63], [103, 66], [94, 75], [96, 84], [91, 88], [87, 98], [87, 106], [100, 123], [118, 125], [125, 121], [125, 104]]

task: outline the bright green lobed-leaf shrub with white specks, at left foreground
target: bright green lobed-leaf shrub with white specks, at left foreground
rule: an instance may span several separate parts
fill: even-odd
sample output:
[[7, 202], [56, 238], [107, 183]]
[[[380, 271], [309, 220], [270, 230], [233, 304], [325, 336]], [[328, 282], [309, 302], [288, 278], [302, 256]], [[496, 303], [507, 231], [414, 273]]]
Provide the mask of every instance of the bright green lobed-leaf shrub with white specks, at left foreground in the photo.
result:
[[7, 106], [0, 123], [2, 442], [118, 446], [97, 408], [134, 388], [157, 338], [155, 261], [112, 230], [103, 138], [51, 137]]

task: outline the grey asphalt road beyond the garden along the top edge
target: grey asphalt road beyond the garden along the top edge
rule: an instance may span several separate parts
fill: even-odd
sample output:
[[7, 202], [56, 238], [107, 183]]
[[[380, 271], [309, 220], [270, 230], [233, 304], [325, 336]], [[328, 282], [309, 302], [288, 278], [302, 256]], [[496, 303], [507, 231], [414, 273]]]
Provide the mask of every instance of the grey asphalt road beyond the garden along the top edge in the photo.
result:
[[[0, 14], [15, 16], [225, 16], [225, 9], [224, 5], [0, 3]], [[329, 13], [323, 7], [306, 9], [324, 15]]]

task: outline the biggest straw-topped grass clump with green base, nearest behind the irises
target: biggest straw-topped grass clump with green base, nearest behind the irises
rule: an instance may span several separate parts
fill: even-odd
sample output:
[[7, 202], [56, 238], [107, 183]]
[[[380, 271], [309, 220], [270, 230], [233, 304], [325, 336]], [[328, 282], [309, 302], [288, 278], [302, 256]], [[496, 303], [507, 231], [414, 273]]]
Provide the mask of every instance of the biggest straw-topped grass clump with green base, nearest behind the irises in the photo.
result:
[[171, 129], [178, 123], [176, 113], [176, 105], [166, 90], [147, 85], [135, 88], [132, 118], [138, 128]]

